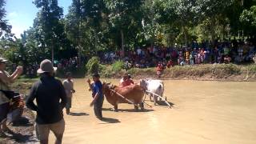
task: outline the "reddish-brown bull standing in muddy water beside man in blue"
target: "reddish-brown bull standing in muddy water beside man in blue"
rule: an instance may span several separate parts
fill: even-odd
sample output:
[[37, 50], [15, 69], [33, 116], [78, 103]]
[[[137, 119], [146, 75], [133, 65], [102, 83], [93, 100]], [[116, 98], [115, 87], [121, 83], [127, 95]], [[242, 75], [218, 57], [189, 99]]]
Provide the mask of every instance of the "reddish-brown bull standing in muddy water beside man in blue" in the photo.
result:
[[[114, 106], [114, 110], [118, 111], [118, 103], [129, 103], [125, 98], [134, 102], [135, 110], [138, 110], [138, 105], [141, 110], [144, 110], [143, 97], [145, 90], [139, 85], [130, 85], [126, 87], [112, 86], [103, 83], [103, 93], [105, 94], [107, 102]], [[121, 94], [124, 98], [119, 96]]]

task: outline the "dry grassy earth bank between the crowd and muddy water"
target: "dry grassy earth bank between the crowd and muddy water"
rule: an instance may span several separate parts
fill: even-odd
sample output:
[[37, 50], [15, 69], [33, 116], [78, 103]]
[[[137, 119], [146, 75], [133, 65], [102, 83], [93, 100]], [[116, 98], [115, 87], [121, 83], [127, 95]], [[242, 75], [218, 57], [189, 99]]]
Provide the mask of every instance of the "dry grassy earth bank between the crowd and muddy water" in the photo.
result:
[[[155, 68], [130, 70], [113, 70], [111, 66], [105, 66], [101, 70], [103, 78], [121, 78], [124, 73], [132, 75], [132, 78], [156, 78]], [[231, 81], [231, 82], [255, 82], [256, 65], [234, 64], [206, 64], [196, 66], [174, 66], [164, 70], [162, 79], [173, 80], [200, 80], [200, 81]]]

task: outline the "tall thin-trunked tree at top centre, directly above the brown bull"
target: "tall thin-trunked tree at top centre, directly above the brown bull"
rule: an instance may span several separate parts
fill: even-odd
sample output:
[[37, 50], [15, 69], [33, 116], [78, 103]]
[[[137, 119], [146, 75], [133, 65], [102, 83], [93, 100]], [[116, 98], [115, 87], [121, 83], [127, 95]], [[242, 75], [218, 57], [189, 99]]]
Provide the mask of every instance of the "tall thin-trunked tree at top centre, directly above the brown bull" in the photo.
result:
[[[111, 26], [119, 32], [122, 51], [125, 47], [125, 39], [136, 37], [138, 30], [142, 30], [142, 0], [104, 0], [110, 11]], [[126, 38], [127, 37], [127, 38]], [[129, 42], [127, 42], [129, 43]]]

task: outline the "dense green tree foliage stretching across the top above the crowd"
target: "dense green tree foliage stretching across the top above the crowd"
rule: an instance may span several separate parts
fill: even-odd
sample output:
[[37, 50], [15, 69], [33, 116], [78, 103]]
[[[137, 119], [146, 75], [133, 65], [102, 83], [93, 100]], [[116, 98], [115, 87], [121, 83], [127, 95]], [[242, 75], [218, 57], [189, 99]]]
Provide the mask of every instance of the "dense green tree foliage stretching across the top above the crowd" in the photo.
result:
[[[55, 60], [91, 58], [99, 51], [182, 46], [241, 31], [256, 36], [255, 0], [72, 0], [65, 17], [58, 0], [34, 0], [38, 14], [21, 38], [11, 38], [5, 4], [0, 0], [0, 37], [6, 35], [0, 52], [25, 66], [51, 58], [52, 50]], [[120, 70], [116, 65], [97, 69]]]

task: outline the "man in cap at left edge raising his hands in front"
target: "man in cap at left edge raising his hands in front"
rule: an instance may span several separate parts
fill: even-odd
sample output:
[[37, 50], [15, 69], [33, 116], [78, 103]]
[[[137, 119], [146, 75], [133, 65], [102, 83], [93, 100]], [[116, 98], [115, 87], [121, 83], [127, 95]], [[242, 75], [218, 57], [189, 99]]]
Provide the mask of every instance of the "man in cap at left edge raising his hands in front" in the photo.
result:
[[[9, 75], [6, 69], [7, 60], [0, 58], [0, 90], [10, 90], [10, 83], [22, 74], [22, 66], [18, 66], [13, 74]], [[0, 91], [0, 137], [6, 136], [4, 132], [11, 133], [6, 126], [6, 118], [10, 109], [10, 99]]]

